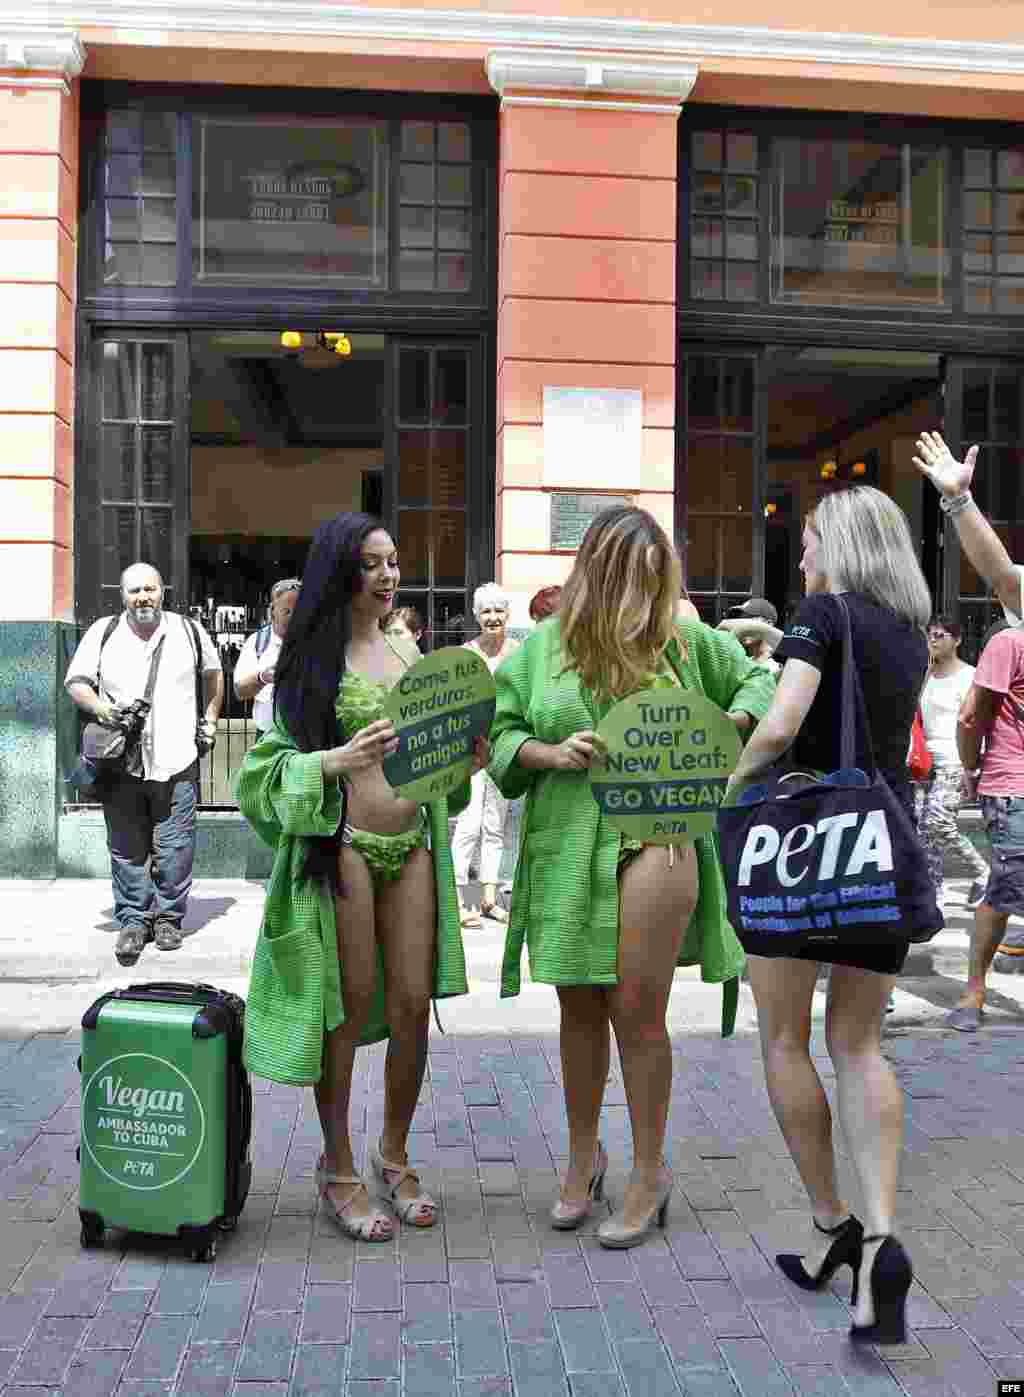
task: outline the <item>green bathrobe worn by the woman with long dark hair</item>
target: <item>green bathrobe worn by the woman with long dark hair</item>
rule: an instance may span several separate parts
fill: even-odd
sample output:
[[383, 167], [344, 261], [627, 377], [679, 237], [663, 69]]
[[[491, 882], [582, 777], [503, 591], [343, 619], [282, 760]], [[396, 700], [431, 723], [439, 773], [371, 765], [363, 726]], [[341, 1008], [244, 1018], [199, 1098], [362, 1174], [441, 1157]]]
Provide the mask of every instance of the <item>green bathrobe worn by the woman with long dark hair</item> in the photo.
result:
[[[319, 752], [299, 752], [275, 724], [246, 754], [235, 791], [242, 813], [275, 851], [246, 1000], [244, 1063], [257, 1077], [307, 1085], [323, 1071], [324, 1031], [345, 1021], [334, 897], [302, 877], [305, 840], [334, 834], [341, 784], [324, 780]], [[465, 956], [448, 813], [469, 799], [469, 784], [426, 806], [437, 887], [434, 997], [467, 993]], [[360, 1042], [388, 1037], [379, 956], [377, 990]]]

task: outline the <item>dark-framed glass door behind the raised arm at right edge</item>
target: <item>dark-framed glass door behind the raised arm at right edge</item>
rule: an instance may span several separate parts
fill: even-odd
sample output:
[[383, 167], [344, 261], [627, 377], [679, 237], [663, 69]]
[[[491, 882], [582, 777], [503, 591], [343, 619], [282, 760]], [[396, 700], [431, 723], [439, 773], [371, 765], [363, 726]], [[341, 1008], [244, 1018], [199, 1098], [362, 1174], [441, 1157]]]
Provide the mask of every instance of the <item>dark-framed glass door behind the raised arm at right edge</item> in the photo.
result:
[[[1024, 363], [947, 359], [944, 432], [954, 455], [971, 446], [981, 448], [974, 497], [1010, 557], [1024, 560]], [[942, 542], [943, 609], [960, 616], [963, 654], [974, 661], [1002, 608], [964, 557], [949, 522]]]

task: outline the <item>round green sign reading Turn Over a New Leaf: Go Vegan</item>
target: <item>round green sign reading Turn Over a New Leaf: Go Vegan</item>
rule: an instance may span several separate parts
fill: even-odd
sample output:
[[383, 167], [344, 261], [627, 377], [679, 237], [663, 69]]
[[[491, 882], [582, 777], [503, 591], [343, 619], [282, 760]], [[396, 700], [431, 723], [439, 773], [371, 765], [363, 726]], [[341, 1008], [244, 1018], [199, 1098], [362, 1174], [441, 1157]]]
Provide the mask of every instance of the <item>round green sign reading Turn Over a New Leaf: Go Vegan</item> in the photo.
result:
[[707, 834], [739, 761], [736, 725], [686, 689], [644, 689], [598, 728], [605, 757], [590, 771], [601, 813], [644, 844], [686, 844]]

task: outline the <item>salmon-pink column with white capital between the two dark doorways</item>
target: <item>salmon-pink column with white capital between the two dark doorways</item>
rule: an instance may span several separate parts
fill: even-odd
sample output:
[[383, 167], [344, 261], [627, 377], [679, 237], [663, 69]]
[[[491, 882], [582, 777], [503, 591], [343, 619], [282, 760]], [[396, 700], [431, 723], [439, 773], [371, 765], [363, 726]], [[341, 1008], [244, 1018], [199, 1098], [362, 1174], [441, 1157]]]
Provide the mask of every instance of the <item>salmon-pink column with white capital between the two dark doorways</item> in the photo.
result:
[[[497, 52], [488, 75], [502, 95], [497, 576], [534, 590], [571, 567], [550, 546], [560, 492], [629, 496], [672, 536], [676, 142], [696, 68]], [[638, 391], [638, 458], [553, 458], [550, 434], [545, 454], [555, 387]]]

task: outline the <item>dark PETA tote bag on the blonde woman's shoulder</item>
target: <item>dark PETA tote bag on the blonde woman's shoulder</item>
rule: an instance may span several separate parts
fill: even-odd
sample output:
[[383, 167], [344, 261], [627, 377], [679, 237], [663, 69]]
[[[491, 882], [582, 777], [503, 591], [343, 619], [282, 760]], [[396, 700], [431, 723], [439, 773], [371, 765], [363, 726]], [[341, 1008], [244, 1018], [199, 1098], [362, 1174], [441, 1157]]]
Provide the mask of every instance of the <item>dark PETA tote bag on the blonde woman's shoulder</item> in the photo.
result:
[[[718, 812], [729, 921], [752, 956], [926, 942], [943, 926], [925, 852], [875, 766], [849, 612], [842, 610], [841, 770], [773, 771]], [[856, 760], [858, 725], [872, 770]]]

